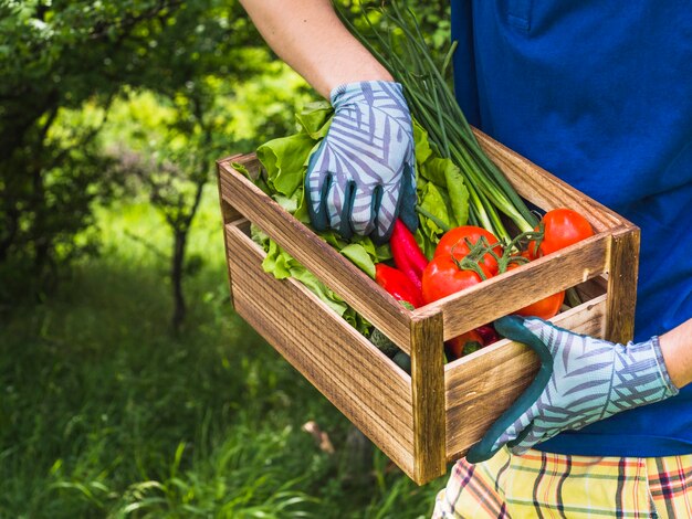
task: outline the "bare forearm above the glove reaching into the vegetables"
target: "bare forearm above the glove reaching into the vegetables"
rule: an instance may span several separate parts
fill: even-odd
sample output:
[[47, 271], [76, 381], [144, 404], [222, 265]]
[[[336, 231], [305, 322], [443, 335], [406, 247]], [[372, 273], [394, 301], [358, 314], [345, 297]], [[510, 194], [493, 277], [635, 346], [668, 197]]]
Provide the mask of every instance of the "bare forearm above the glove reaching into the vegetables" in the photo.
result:
[[329, 0], [241, 0], [269, 45], [323, 96], [389, 72], [340, 23]]

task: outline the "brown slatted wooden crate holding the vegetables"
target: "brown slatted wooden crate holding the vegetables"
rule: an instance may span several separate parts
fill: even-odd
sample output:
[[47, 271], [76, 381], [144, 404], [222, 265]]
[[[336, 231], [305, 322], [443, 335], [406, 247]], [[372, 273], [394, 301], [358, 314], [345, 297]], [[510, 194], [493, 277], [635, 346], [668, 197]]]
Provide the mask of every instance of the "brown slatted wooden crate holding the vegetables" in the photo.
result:
[[[490, 157], [518, 193], [544, 210], [570, 208], [596, 234], [483, 284], [409, 311], [337, 251], [235, 171], [254, 155], [218, 162], [235, 311], [416, 483], [445, 473], [528, 385], [537, 358], [502, 340], [444, 364], [443, 340], [578, 286], [586, 301], [553, 320], [614, 341], [632, 338], [639, 230], [490, 137]], [[411, 356], [399, 369], [302, 284], [262, 271], [256, 224]]]

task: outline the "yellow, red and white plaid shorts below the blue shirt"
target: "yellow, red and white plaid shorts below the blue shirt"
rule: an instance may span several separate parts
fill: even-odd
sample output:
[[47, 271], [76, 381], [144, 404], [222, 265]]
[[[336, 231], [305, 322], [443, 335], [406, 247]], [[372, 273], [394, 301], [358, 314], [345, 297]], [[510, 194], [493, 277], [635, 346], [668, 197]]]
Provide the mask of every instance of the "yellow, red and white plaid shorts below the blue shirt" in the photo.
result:
[[460, 459], [433, 519], [692, 518], [692, 454], [653, 458], [567, 456], [507, 448]]

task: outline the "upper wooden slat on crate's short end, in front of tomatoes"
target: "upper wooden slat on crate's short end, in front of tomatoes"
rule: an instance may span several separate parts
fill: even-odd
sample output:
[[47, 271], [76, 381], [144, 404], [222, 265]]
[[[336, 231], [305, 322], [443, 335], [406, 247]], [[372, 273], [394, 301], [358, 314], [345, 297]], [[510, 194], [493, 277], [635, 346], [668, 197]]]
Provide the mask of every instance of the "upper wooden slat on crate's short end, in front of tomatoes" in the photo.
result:
[[444, 340], [601, 274], [608, 262], [608, 234], [583, 242], [417, 309], [442, 311]]

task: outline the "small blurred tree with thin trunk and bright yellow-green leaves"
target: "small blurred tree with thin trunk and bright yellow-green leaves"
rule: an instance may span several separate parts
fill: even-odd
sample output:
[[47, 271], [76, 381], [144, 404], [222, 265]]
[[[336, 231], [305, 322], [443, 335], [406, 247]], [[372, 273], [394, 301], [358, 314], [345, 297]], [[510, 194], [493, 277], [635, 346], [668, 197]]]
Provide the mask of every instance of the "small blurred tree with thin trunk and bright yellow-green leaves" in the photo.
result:
[[116, 102], [103, 135], [111, 174], [129, 180], [170, 230], [169, 251], [137, 230], [128, 235], [169, 264], [176, 331], [186, 317], [184, 279], [206, 262], [190, 256], [187, 244], [214, 160], [293, 131], [295, 104], [310, 98], [302, 91], [304, 82], [274, 62], [241, 85], [209, 75], [175, 92], [133, 92]]

